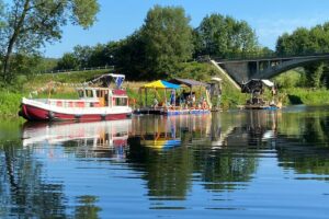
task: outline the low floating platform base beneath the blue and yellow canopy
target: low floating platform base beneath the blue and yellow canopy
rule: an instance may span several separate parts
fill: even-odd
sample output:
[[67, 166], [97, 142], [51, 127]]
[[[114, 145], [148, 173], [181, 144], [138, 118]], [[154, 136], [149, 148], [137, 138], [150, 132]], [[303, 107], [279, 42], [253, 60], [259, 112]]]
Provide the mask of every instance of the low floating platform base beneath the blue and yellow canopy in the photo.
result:
[[186, 114], [208, 114], [211, 113], [207, 108], [138, 108], [134, 111], [134, 114], [155, 114], [155, 115], [186, 115]]

